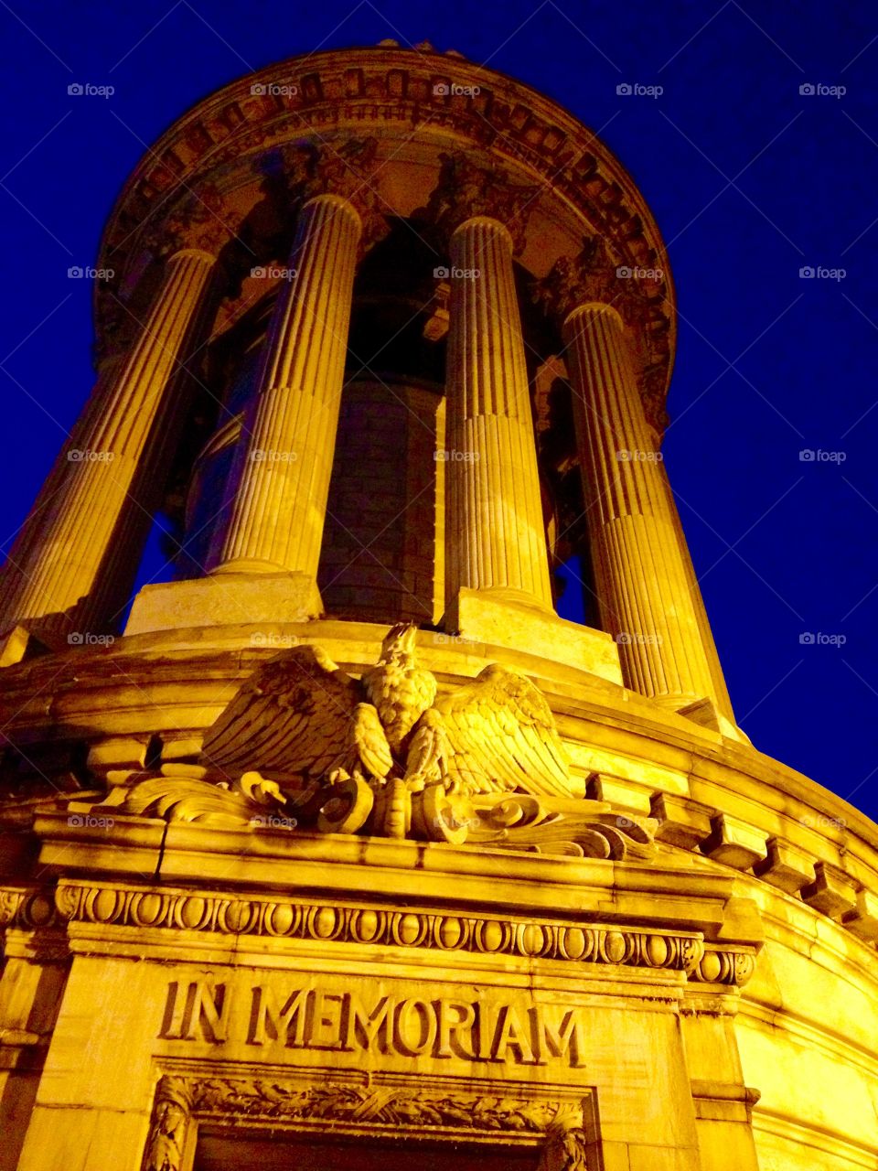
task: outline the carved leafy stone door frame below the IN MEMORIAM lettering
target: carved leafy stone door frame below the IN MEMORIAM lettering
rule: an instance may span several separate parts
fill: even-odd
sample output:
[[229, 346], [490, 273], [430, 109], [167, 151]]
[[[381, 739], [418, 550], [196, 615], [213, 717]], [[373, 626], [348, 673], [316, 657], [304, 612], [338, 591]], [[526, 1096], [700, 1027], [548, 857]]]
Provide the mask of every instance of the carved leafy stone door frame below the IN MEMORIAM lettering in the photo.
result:
[[[563, 1093], [563, 1091], [562, 1091]], [[359, 1139], [491, 1141], [536, 1148], [535, 1171], [588, 1171], [588, 1098], [551, 1100], [485, 1088], [398, 1081], [164, 1075], [156, 1089], [143, 1171], [180, 1171], [194, 1128], [233, 1128], [246, 1119], [290, 1135], [356, 1135]]]

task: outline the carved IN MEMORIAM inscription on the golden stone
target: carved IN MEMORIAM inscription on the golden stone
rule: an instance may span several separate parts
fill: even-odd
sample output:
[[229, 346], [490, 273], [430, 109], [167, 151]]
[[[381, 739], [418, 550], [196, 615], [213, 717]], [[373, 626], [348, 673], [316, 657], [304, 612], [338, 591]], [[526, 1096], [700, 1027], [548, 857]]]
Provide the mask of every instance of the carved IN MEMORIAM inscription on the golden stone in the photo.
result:
[[546, 1066], [585, 1063], [582, 1008], [478, 997], [336, 992], [317, 984], [232, 989], [206, 980], [167, 987], [159, 1038], [270, 1049], [430, 1056]]

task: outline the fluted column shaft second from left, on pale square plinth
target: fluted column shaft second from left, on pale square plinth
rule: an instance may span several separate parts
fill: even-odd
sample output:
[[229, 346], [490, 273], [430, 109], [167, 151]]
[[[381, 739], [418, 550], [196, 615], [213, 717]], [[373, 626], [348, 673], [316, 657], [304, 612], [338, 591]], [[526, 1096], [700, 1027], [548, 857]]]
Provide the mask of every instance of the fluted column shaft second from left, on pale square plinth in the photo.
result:
[[287, 571], [316, 582], [361, 232], [357, 211], [336, 194], [316, 196], [300, 213], [295, 276], [269, 327], [214, 573]]

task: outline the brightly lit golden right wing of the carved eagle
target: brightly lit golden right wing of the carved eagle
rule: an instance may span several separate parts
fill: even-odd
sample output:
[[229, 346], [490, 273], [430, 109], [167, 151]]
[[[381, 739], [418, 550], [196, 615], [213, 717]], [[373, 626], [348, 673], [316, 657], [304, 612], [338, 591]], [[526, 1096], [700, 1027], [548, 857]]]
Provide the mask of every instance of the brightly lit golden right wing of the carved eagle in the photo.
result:
[[578, 795], [551, 710], [523, 674], [486, 666], [434, 707], [445, 725], [446, 772], [464, 792]]

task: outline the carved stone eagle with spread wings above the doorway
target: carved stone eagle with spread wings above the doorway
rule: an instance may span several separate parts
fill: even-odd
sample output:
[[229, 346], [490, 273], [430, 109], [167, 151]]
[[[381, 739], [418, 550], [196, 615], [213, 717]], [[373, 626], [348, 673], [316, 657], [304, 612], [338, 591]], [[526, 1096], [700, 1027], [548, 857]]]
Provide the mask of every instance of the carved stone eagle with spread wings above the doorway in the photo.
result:
[[373, 788], [578, 795], [549, 705], [516, 671], [486, 666], [438, 696], [417, 663], [416, 628], [393, 626], [376, 666], [356, 679], [318, 646], [269, 659], [208, 728], [203, 763], [229, 780], [259, 771], [301, 788], [357, 776]]

